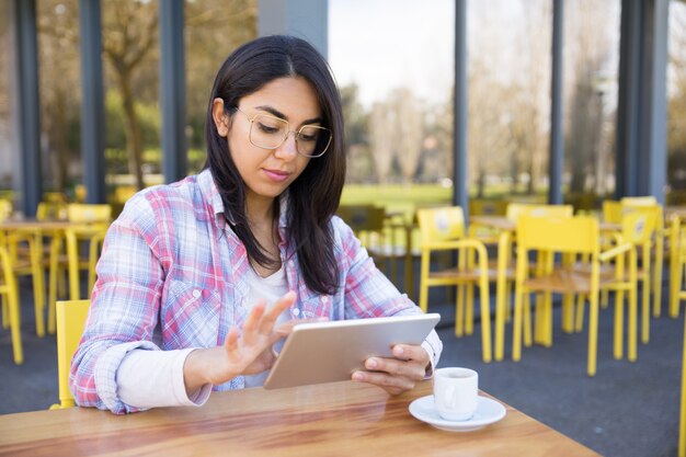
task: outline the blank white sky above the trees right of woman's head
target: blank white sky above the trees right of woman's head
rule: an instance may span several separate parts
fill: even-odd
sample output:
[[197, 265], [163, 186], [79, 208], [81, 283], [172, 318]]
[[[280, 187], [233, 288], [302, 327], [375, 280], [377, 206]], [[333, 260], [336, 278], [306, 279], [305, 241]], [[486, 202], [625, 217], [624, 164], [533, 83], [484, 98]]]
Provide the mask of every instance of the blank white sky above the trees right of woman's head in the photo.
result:
[[[329, 62], [363, 105], [410, 87], [443, 103], [453, 87], [454, 0], [329, 0]], [[363, 83], [364, 82], [364, 83]]]

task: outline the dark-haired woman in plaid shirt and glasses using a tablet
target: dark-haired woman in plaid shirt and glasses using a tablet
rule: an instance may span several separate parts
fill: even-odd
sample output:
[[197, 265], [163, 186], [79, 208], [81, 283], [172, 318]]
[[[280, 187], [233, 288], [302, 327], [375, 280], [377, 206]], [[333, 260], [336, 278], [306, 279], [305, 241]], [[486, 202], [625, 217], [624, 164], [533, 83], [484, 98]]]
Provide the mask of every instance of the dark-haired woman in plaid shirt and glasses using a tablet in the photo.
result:
[[[311, 45], [270, 36], [232, 53], [205, 136], [205, 170], [138, 193], [107, 233], [71, 364], [80, 405], [203, 404], [213, 388], [260, 386], [293, 320], [421, 312], [333, 217], [343, 115]], [[421, 346], [367, 359], [352, 379], [399, 393], [441, 350], [432, 332]]]

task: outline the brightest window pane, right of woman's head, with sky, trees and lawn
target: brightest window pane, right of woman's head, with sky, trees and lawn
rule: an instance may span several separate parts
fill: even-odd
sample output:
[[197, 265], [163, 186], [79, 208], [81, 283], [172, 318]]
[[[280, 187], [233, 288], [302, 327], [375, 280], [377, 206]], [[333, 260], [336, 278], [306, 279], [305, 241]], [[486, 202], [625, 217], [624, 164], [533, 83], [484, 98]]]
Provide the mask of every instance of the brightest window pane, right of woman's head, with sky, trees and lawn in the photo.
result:
[[410, 213], [449, 202], [454, 37], [450, 0], [330, 0], [329, 61], [347, 129], [344, 204]]

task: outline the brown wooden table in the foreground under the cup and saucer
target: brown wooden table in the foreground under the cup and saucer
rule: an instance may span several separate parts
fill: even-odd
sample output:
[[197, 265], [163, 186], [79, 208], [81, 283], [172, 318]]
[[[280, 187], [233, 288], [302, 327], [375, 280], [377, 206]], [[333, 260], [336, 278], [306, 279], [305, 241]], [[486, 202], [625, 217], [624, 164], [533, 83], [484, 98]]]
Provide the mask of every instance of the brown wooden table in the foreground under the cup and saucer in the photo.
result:
[[595, 456], [507, 408], [503, 420], [450, 433], [410, 415], [402, 396], [350, 381], [214, 392], [202, 408], [116, 416], [71, 408], [0, 415], [0, 456]]

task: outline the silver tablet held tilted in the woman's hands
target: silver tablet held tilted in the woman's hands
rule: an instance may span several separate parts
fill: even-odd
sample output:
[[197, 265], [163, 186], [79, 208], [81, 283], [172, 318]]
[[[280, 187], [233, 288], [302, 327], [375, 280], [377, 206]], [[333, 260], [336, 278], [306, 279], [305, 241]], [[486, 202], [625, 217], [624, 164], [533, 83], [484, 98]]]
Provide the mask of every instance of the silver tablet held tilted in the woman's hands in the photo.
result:
[[367, 358], [390, 357], [399, 343], [424, 342], [438, 320], [430, 313], [296, 324], [264, 388], [350, 380]]

